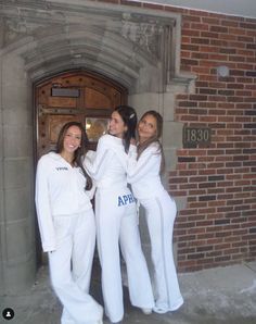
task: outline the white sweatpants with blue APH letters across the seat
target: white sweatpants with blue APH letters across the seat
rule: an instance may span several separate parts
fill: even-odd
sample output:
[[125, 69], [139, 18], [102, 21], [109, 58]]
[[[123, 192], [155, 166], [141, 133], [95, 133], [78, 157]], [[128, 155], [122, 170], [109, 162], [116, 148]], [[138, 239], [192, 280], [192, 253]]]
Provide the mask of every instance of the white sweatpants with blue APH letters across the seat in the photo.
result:
[[153, 308], [154, 297], [141, 249], [136, 203], [130, 190], [98, 189], [95, 216], [106, 315], [112, 322], [121, 321], [124, 316], [119, 244], [127, 266], [131, 304]]

